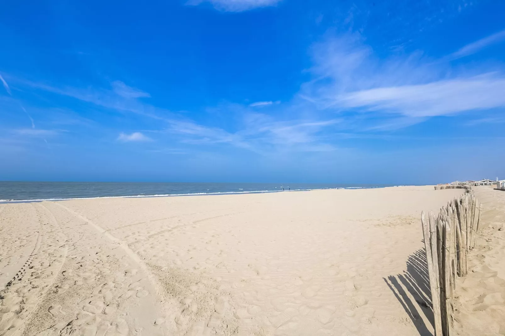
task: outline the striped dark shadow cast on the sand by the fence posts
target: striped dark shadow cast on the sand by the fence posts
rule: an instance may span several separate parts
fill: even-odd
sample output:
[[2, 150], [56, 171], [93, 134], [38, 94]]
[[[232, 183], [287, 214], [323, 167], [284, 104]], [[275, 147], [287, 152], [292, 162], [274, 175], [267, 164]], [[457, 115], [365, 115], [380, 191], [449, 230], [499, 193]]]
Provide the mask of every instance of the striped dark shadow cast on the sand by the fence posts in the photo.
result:
[[[408, 257], [407, 270], [403, 271], [403, 274], [389, 275], [387, 279], [383, 279], [409, 315], [419, 334], [431, 336], [432, 332], [425, 324], [425, 319], [419, 315], [419, 311], [422, 311], [433, 328], [434, 317], [426, 249], [419, 249]], [[407, 295], [406, 290], [411, 296]]]

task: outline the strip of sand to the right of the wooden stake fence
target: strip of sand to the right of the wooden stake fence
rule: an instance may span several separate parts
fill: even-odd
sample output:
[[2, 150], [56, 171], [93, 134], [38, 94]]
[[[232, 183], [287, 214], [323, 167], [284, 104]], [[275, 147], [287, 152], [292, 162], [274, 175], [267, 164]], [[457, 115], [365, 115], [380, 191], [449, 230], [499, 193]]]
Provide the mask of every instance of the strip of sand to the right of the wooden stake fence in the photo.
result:
[[458, 278], [455, 328], [461, 335], [505, 334], [505, 192], [474, 188], [483, 212], [479, 239]]

